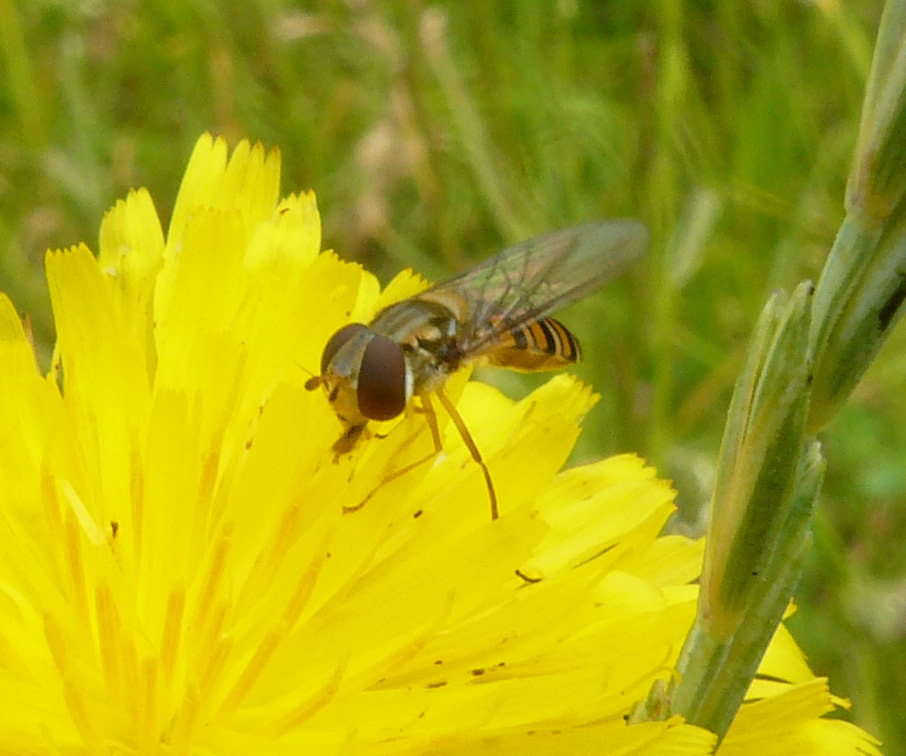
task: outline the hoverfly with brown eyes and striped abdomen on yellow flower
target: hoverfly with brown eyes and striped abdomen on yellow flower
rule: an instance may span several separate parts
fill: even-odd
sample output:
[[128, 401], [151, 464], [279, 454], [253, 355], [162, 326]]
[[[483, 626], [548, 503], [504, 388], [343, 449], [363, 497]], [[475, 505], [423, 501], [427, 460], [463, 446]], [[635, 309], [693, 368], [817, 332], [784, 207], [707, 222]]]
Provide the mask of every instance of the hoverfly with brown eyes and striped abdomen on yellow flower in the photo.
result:
[[324, 387], [346, 426], [334, 451], [350, 451], [369, 420], [397, 417], [417, 396], [434, 451], [389, 479], [405, 474], [443, 448], [434, 395], [481, 467], [491, 517], [497, 519], [490, 472], [444, 383], [466, 363], [540, 371], [576, 362], [578, 340], [548, 313], [591, 294], [636, 262], [647, 240], [645, 227], [627, 219], [555, 231], [384, 308], [368, 325], [340, 328], [324, 347], [321, 374], [305, 384], [309, 390]]

